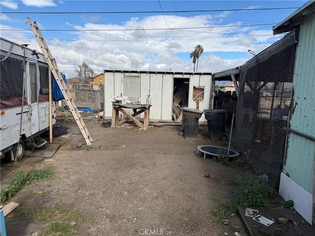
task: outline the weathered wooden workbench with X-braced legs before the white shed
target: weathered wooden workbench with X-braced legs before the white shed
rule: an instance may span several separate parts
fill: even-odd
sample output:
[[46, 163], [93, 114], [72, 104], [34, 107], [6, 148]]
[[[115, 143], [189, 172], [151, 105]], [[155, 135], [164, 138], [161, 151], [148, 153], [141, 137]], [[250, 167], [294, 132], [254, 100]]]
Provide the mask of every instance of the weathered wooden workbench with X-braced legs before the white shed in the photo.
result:
[[[127, 120], [132, 120], [136, 125], [138, 125], [141, 129], [147, 130], [149, 127], [149, 114], [150, 114], [150, 105], [142, 105], [142, 104], [121, 104], [113, 102], [113, 116], [112, 116], [112, 125], [111, 127], [116, 127], [116, 125], [121, 125], [125, 123]], [[132, 109], [133, 114], [129, 114], [124, 109]], [[119, 120], [119, 112], [124, 114], [126, 118]], [[143, 123], [134, 118], [139, 114], [144, 112]]]

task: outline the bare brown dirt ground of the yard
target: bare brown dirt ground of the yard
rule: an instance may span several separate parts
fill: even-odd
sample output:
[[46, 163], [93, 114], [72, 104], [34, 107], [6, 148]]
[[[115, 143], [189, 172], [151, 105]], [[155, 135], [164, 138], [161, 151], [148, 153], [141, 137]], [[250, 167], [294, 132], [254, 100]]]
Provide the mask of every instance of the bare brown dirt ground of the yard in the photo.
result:
[[[55, 167], [53, 179], [24, 187], [12, 201], [25, 210], [71, 206], [93, 219], [77, 224], [80, 236], [139, 236], [146, 229], [167, 236], [247, 235], [236, 215], [228, 225], [209, 217], [214, 207], [231, 203], [235, 177], [245, 171], [196, 155], [199, 145], [228, 144], [211, 141], [207, 126], [199, 127], [197, 140], [187, 140], [178, 135], [180, 125], [105, 128], [93, 117], [86, 124], [90, 150], [76, 146], [84, 143], [76, 124], [63, 122], [68, 135], [54, 139], [61, 146], [52, 158], [24, 157], [12, 167], [2, 161], [1, 182], [20, 169]], [[8, 236], [35, 236], [46, 225], [5, 218]]]

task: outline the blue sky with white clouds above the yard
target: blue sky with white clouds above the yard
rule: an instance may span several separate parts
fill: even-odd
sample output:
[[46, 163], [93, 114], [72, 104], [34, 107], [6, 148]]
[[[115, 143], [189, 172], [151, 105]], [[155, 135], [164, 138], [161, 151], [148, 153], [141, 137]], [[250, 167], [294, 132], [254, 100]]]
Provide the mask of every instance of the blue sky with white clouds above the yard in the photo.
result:
[[39, 50], [25, 24], [30, 17], [67, 78], [83, 61], [95, 73], [193, 71], [189, 54], [197, 44], [204, 48], [198, 71], [219, 72], [251, 59], [249, 49], [257, 54], [282, 38], [272, 27], [306, 2], [1, 0], [0, 35]]

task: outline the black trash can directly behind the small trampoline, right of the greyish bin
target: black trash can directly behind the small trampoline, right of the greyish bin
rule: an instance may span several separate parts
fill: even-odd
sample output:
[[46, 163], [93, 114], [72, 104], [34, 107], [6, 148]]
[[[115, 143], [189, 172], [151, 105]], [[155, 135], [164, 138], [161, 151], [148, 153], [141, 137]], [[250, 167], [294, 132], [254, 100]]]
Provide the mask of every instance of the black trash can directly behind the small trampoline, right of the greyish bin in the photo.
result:
[[211, 140], [220, 140], [221, 134], [225, 133], [225, 115], [228, 111], [223, 109], [203, 110], [208, 121], [208, 129]]

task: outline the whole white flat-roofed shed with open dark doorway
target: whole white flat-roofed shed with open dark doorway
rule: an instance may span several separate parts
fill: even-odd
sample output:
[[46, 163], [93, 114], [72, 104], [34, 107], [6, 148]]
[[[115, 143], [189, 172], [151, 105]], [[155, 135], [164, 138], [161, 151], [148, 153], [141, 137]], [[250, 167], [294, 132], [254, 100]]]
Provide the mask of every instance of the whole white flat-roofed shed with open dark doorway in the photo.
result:
[[[150, 95], [150, 121], [154, 122], [176, 120], [179, 107], [199, 106], [200, 111], [211, 107], [212, 72], [104, 70], [104, 80], [107, 119], [112, 117], [112, 101], [117, 96], [139, 98], [140, 104], [146, 104]], [[207, 123], [204, 115], [199, 123]]]

